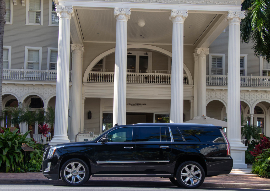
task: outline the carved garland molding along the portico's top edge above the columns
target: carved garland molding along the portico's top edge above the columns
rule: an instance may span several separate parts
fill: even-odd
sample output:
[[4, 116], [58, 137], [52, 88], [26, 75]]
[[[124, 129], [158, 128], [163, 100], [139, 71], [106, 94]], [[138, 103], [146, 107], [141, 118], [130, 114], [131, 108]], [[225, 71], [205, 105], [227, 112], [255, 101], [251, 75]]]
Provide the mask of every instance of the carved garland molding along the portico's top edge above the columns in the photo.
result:
[[[95, 0], [93, 0], [93, 1], [95, 1]], [[116, 1], [116, 0], [102, 0], [102, 1]], [[124, 0], [121, 0], [121, 1], [123, 2]], [[148, 1], [148, 0], [127, 0], [127, 1], [134, 2], [134, 3], [141, 3], [141, 2]], [[200, 1], [188, 1], [188, 0], [149, 0], [149, 1], [150, 1], [150, 3], [152, 3], [152, 1], [158, 2], [158, 3], [173, 3], [173, 2], [178, 2], [178, 4], [181, 4], [181, 3], [200, 4], [200, 3], [206, 2], [207, 5], [209, 3], [218, 4], [218, 5], [227, 5], [227, 4], [234, 3], [235, 5], [237, 5], [237, 0], [232, 0], [232, 1], [212, 1], [212, 0], [200, 0]]]

